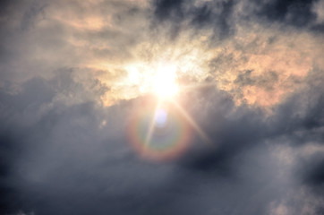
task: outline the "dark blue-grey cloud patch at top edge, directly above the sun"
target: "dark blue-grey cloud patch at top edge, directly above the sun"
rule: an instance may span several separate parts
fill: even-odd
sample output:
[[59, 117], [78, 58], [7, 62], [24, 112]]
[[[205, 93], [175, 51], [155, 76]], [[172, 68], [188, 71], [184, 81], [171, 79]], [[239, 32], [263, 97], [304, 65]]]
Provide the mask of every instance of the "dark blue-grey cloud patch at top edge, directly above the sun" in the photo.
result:
[[[169, 22], [174, 34], [182, 29], [194, 27], [214, 30], [214, 36], [225, 39], [234, 33], [232, 14], [234, 1], [208, 1], [195, 4], [194, 1], [153, 1], [154, 14], [158, 22]], [[186, 26], [189, 22], [191, 26]]]

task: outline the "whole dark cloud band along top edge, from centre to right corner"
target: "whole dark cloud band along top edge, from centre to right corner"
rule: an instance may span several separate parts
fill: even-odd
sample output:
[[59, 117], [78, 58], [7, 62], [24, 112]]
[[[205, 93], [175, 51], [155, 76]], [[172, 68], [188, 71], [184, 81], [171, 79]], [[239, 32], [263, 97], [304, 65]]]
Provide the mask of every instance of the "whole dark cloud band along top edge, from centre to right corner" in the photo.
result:
[[[169, 22], [175, 32], [195, 28], [213, 29], [214, 37], [226, 39], [235, 32], [240, 22], [272, 23], [302, 30], [322, 32], [323, 22], [314, 10], [318, 0], [271, 1], [153, 1], [158, 22]], [[241, 7], [241, 8], [240, 8]], [[182, 24], [183, 22], [188, 22]]]

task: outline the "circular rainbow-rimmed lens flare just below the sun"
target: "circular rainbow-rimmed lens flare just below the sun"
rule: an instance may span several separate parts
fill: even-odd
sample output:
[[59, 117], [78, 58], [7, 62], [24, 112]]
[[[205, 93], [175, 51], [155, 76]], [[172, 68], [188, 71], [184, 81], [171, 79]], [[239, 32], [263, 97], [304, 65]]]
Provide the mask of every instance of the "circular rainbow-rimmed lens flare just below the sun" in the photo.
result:
[[132, 116], [129, 137], [141, 157], [165, 160], [187, 148], [191, 131], [183, 116], [170, 108], [144, 108]]

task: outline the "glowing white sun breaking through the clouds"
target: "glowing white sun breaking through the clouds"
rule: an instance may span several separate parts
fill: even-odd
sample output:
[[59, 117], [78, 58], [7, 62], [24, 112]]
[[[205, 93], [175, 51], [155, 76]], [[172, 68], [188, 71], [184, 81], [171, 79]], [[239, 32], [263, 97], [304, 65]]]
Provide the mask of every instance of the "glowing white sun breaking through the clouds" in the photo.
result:
[[170, 99], [179, 92], [175, 70], [175, 66], [164, 66], [153, 77], [152, 88], [160, 99]]

